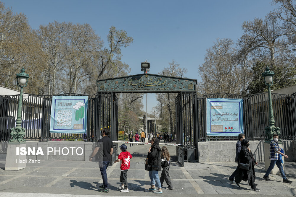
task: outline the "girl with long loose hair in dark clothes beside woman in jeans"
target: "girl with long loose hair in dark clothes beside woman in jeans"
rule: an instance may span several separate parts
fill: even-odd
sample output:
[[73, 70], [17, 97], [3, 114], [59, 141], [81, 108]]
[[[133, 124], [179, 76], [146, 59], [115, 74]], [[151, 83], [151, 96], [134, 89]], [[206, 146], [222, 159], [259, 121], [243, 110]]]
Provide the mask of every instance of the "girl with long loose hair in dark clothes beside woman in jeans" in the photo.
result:
[[160, 184], [163, 187], [163, 181], [168, 185], [168, 190], [173, 189], [172, 182], [170, 181], [170, 175], [168, 171], [170, 170], [170, 153], [168, 152], [168, 148], [166, 146], [161, 147], [161, 156], [160, 156], [161, 167], [163, 171], [161, 172], [160, 176]]

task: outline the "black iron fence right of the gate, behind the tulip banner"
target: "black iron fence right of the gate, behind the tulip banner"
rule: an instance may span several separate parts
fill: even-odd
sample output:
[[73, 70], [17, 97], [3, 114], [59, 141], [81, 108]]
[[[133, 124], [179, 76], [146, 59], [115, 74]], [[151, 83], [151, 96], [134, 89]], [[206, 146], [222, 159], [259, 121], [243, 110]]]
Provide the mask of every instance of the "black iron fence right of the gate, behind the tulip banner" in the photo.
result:
[[[217, 93], [197, 98], [198, 106], [198, 138], [199, 141], [237, 140], [237, 137], [207, 136], [206, 132], [206, 98], [242, 98], [244, 133], [251, 140], [264, 140], [264, 128], [268, 126], [268, 95], [260, 93], [233, 95]], [[296, 139], [296, 93], [289, 95], [271, 93], [275, 125], [281, 128], [281, 139]]]

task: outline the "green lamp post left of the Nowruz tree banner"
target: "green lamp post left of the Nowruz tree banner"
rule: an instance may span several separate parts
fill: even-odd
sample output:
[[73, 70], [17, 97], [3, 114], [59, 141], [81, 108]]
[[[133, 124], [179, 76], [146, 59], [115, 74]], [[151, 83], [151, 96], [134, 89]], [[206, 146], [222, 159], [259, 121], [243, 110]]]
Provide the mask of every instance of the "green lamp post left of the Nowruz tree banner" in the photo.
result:
[[17, 86], [20, 87], [20, 99], [17, 107], [17, 120], [16, 127], [11, 129], [10, 136], [12, 139], [9, 142], [24, 142], [23, 137], [25, 136], [25, 128], [22, 128], [22, 89], [27, 86], [28, 74], [25, 73], [25, 69], [22, 68], [22, 72], [17, 74]]

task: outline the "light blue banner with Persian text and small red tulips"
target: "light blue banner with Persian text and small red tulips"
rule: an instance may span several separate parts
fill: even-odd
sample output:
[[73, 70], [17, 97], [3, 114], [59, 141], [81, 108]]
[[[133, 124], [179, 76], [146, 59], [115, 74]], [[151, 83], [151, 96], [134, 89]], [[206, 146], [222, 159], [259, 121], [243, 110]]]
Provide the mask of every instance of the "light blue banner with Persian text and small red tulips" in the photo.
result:
[[207, 99], [207, 135], [238, 136], [243, 129], [242, 99]]

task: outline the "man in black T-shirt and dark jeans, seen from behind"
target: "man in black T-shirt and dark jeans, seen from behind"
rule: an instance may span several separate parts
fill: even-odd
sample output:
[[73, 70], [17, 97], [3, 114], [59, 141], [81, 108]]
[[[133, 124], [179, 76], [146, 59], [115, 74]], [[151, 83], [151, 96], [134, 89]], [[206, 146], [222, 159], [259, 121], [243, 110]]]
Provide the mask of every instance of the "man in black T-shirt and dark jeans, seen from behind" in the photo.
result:
[[98, 140], [96, 148], [92, 152], [91, 156], [89, 157], [89, 161], [96, 155], [96, 153], [100, 150], [99, 155], [102, 155], [103, 161], [99, 162], [99, 167], [103, 179], [103, 185], [99, 187], [99, 192], [108, 193], [108, 178], [107, 178], [107, 167], [111, 161], [111, 155], [113, 153], [113, 142], [109, 138], [110, 131], [107, 128], [104, 128], [101, 132], [102, 138]]

